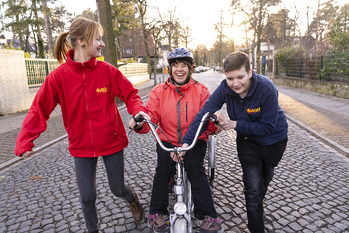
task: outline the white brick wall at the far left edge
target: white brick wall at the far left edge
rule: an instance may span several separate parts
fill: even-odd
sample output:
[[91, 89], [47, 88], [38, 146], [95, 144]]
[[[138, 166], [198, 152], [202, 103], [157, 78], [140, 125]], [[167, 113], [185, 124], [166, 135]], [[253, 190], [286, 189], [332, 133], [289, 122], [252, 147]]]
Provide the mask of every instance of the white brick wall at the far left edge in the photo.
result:
[[0, 114], [30, 108], [36, 93], [29, 93], [24, 52], [0, 49]]

